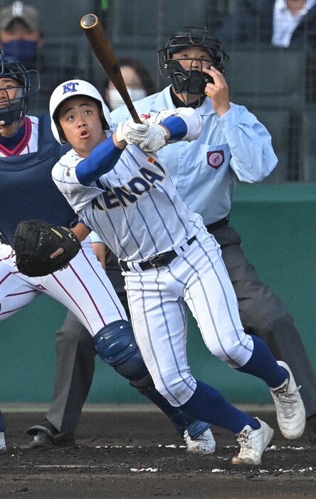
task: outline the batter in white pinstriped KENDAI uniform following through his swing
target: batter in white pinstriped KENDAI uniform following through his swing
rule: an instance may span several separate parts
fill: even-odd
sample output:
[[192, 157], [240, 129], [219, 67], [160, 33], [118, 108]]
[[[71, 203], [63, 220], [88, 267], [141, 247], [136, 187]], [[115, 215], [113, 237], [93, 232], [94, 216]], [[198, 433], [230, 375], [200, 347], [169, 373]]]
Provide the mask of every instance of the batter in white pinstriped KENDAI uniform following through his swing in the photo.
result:
[[[286, 438], [302, 435], [305, 409], [288, 365], [277, 363], [262, 340], [243, 331], [216, 240], [152, 154], [166, 141], [196, 139], [201, 117], [189, 107], [178, 108], [153, 119], [148, 115], [143, 125], [119, 124], [113, 133], [104, 132], [106, 112], [88, 82], [68, 81], [54, 90], [52, 131], [73, 149], [54, 166], [53, 181], [120, 259], [135, 336], [157, 390], [175, 407], [237, 434], [241, 451], [233, 463], [258, 464], [273, 430], [191, 374], [186, 308], [214, 355], [270, 387]], [[98, 333], [99, 352], [104, 343]]]

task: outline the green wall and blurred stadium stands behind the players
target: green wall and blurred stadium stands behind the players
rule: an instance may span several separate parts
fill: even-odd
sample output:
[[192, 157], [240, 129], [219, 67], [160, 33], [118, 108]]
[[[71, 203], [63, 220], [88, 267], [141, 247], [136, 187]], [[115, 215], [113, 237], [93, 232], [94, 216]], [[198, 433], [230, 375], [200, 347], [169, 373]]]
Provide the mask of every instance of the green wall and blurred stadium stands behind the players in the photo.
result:
[[[102, 89], [104, 75], [91, 53], [79, 21], [94, 12], [117, 55], [141, 59], [157, 88], [162, 80], [157, 50], [183, 26], [214, 30], [233, 11], [233, 0], [27, 0], [41, 13], [46, 37], [43, 56], [57, 73], [77, 68], [80, 77]], [[0, 0], [0, 8], [11, 1]], [[258, 185], [240, 184], [231, 221], [243, 249], [293, 315], [316, 369], [316, 157], [314, 59], [308, 49], [224, 46], [230, 55], [227, 79], [231, 100], [246, 104], [268, 127], [279, 157], [277, 170]], [[30, 112], [46, 110], [33, 97]], [[2, 402], [49, 402], [53, 393], [56, 329], [65, 309], [40, 296], [0, 323]], [[232, 402], [270, 402], [266, 387], [210, 358], [189, 318], [189, 360], [196, 377], [218, 387]], [[142, 402], [136, 390], [96, 359], [88, 402]]]

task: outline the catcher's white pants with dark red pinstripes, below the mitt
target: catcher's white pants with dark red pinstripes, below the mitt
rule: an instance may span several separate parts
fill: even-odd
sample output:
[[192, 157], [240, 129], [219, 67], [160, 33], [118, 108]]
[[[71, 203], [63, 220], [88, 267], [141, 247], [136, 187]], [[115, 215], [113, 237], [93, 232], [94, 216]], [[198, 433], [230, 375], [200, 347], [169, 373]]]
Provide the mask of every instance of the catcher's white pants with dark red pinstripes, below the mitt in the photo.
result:
[[45, 293], [78, 317], [92, 336], [113, 321], [127, 320], [120, 300], [98, 262], [90, 238], [68, 267], [44, 277], [27, 277], [15, 266], [11, 247], [0, 245], [0, 320]]

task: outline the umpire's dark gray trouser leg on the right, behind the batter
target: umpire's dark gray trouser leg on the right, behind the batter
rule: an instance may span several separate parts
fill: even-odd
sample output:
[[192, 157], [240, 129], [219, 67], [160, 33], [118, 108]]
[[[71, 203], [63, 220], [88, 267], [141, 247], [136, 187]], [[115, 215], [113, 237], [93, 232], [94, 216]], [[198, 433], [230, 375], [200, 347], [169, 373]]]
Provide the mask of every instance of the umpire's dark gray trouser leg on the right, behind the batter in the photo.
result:
[[277, 360], [290, 366], [305, 404], [306, 417], [316, 414], [316, 376], [293, 318], [269, 286], [263, 284], [241, 249], [230, 225], [211, 230], [221, 245], [223, 261], [238, 299], [245, 331], [259, 336]]

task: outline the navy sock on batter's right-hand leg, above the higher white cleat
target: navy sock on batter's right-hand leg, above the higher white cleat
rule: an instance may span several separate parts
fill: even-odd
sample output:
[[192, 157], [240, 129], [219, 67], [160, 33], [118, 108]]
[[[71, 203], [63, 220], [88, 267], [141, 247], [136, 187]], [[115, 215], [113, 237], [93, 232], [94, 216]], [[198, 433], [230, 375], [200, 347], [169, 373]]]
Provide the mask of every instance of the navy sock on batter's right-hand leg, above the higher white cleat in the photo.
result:
[[263, 340], [252, 335], [251, 338], [253, 338], [253, 355], [248, 363], [243, 367], [237, 367], [236, 370], [260, 377], [270, 388], [279, 387], [289, 376], [288, 371], [276, 363]]

